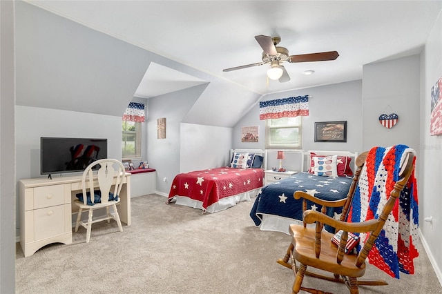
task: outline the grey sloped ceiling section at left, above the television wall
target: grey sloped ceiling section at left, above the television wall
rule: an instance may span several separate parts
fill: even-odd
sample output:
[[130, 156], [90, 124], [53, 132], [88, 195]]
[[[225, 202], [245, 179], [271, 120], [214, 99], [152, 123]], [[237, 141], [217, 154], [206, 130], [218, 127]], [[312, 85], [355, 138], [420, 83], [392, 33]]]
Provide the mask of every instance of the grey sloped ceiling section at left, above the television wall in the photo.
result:
[[16, 6], [17, 105], [121, 116], [146, 50], [30, 6]]

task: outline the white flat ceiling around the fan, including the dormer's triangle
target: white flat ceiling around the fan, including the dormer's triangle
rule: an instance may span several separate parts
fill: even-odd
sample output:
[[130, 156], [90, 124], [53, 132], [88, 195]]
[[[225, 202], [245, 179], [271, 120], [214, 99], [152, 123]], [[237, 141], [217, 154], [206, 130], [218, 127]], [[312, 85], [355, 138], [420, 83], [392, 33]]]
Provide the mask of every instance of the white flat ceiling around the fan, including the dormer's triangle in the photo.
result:
[[[260, 95], [362, 79], [367, 63], [418, 54], [442, 1], [26, 1]], [[336, 50], [338, 59], [283, 65], [290, 81], [267, 80], [254, 36], [280, 37], [290, 55]], [[302, 75], [314, 70], [314, 75]], [[151, 63], [135, 96], [204, 81]]]

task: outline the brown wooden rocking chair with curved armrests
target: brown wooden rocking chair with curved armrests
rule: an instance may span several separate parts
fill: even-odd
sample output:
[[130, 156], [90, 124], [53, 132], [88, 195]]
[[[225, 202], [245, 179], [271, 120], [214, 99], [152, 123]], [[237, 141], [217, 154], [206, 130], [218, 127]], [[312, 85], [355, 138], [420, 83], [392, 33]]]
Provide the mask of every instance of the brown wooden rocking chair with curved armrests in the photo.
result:
[[[405, 149], [403, 152], [401, 166], [400, 168], [397, 168], [397, 181], [395, 183], [390, 183], [390, 185], [392, 185], [390, 197], [386, 197], [387, 201], [385, 206], [383, 206], [383, 208], [379, 208], [382, 210], [378, 210], [378, 217], [365, 222], [348, 222], [348, 220], [346, 222], [349, 211], [352, 211], [351, 204], [352, 200], [354, 199], [355, 191], [356, 194], [361, 193], [362, 195], [363, 192], [361, 192], [361, 189], [364, 188], [360, 188], [360, 185], [365, 185], [366, 187], [369, 186], [367, 185], [367, 181], [361, 181], [361, 179], [363, 179], [363, 177], [361, 177], [361, 173], [371, 173], [371, 175], [374, 175], [374, 171], [371, 169], [373, 169], [376, 164], [373, 164], [372, 162], [367, 164], [366, 161], [367, 157], [374, 155], [373, 153], [376, 153], [376, 150], [374, 149], [375, 148], [370, 150], [369, 153], [362, 153], [356, 159], [356, 165], [358, 168], [349, 189], [347, 199], [336, 202], [327, 202], [300, 191], [294, 193], [294, 197], [296, 199], [303, 198], [304, 210], [306, 208], [305, 206], [307, 206], [306, 200], [308, 199], [316, 204], [322, 205], [323, 213], [315, 210], [305, 210], [303, 213], [304, 226], [292, 224], [289, 228], [293, 239], [289, 245], [289, 248], [287, 249], [285, 257], [283, 259], [279, 259], [278, 263], [282, 264], [283, 266], [287, 266], [288, 268], [292, 268], [294, 271], [296, 278], [292, 288], [292, 293], [298, 293], [300, 290], [307, 291], [309, 293], [324, 293], [322, 291], [317, 291], [316, 289], [302, 287], [301, 284], [304, 275], [319, 277], [323, 280], [332, 282], [344, 283], [347, 288], [349, 288], [349, 292], [352, 294], [358, 293], [358, 285], [387, 285], [387, 282], [383, 280], [362, 281], [357, 279], [358, 277], [362, 277], [365, 273], [365, 259], [367, 258], [367, 255], [369, 255], [372, 248], [377, 246], [375, 241], [383, 230], [384, 224], [392, 212], [393, 207], [396, 205], [396, 199], [398, 199], [399, 195], [401, 195], [401, 191], [407, 184], [410, 175], [412, 175], [412, 179], [414, 179], [414, 173], [412, 173], [414, 170], [414, 150]], [[389, 154], [391, 157], [392, 153]], [[385, 157], [383, 160], [385, 160]], [[385, 173], [383, 175], [385, 175]], [[374, 185], [374, 193], [382, 193], [382, 191], [385, 190], [385, 182], [383, 182], [384, 186]], [[368, 190], [368, 188], [366, 188], [366, 190]], [[371, 193], [371, 191], [368, 191], [368, 195], [371, 196]], [[359, 197], [356, 198], [359, 199]], [[361, 197], [361, 199], [362, 198], [363, 197]], [[326, 206], [343, 206], [343, 214], [341, 215], [340, 220], [333, 219], [332, 217], [325, 215], [324, 213]], [[359, 204], [359, 207], [361, 207], [361, 204]], [[316, 222], [315, 227], [306, 226], [307, 224], [313, 224], [314, 222]], [[333, 226], [336, 228], [336, 231], [343, 231], [339, 245], [332, 242], [332, 237], [334, 237], [333, 233], [323, 230], [324, 224]], [[358, 233], [367, 233], [367, 235], [365, 235], [367, 236], [365, 242], [362, 242], [361, 237], [361, 248], [358, 254], [345, 253], [349, 232], [356, 233], [356, 235], [358, 235]], [[289, 259], [291, 259], [290, 262]], [[297, 265], [296, 262], [298, 262], [299, 265]], [[307, 267], [309, 266], [332, 273], [333, 276], [320, 274], [320, 271], [311, 273], [307, 271]]]

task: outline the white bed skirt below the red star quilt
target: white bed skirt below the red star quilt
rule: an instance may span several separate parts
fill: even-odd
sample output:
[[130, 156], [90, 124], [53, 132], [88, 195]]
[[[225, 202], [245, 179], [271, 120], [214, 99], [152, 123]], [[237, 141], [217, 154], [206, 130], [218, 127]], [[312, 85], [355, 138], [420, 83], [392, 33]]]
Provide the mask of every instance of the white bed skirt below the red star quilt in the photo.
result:
[[256, 188], [253, 190], [249, 190], [247, 192], [244, 192], [244, 193], [241, 193], [238, 195], [233, 195], [230, 197], [224, 197], [224, 198], [220, 199], [220, 201], [218, 201], [210, 206], [207, 206], [206, 210], [204, 210], [204, 208], [202, 208], [202, 202], [200, 202], [198, 200], [191, 199], [187, 196], [176, 195], [174, 197], [174, 199], [175, 199], [175, 204], [177, 204], [177, 205], [184, 205], [184, 206], [189, 206], [192, 208], [201, 209], [201, 210], [203, 210], [203, 213], [205, 213], [205, 212], [216, 213], [218, 211], [225, 210], [229, 207], [235, 206], [239, 202], [251, 201], [251, 198], [258, 196], [261, 188], [262, 187]]

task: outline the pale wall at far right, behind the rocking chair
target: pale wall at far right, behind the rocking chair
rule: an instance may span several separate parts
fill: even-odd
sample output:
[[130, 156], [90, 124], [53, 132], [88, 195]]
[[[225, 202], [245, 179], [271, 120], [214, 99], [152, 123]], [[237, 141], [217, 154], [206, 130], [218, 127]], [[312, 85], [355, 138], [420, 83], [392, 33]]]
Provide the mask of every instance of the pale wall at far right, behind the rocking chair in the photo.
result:
[[[418, 157], [419, 226], [423, 244], [442, 284], [442, 136], [430, 136], [430, 90], [442, 77], [442, 11], [421, 55], [421, 121]], [[424, 222], [433, 217], [432, 223]]]

